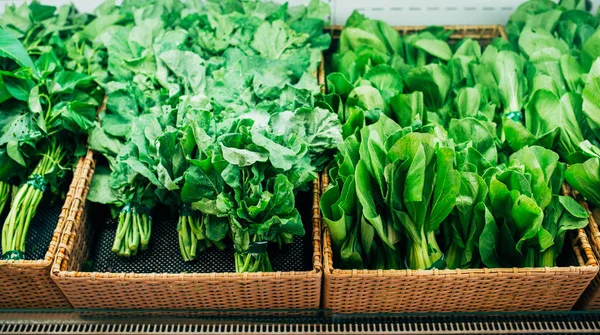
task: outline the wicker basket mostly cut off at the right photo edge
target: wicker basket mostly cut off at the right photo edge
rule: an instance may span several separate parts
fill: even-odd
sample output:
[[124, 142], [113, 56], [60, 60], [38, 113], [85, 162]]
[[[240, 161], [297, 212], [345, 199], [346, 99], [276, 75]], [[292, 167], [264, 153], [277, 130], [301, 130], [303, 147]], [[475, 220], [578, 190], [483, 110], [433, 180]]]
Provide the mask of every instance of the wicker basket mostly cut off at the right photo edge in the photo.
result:
[[[600, 230], [598, 230], [597, 222], [600, 221], [600, 210], [595, 208], [593, 211], [590, 211], [587, 203], [583, 201], [580, 201], [580, 203], [588, 210], [588, 212], [592, 213], [590, 224], [585, 231], [590, 238], [594, 256], [596, 256], [596, 260], [598, 260], [600, 259]], [[577, 307], [581, 309], [600, 310], [600, 274], [592, 280], [590, 286], [585, 290]]]

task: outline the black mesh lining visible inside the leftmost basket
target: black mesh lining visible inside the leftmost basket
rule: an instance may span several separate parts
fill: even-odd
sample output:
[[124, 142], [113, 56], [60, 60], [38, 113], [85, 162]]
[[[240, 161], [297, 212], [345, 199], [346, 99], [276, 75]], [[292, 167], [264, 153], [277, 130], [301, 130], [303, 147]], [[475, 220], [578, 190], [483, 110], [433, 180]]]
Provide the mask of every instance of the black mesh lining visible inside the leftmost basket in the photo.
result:
[[[9, 204], [5, 206], [4, 213], [0, 215], [0, 227], [4, 227], [4, 221], [9, 211], [8, 207]], [[50, 246], [50, 241], [52, 241], [54, 230], [58, 224], [58, 217], [61, 210], [62, 200], [53, 204], [42, 201], [33, 220], [31, 220], [27, 238], [25, 239], [26, 260], [44, 259]], [[0, 245], [0, 254], [2, 253], [4, 253], [4, 250], [2, 250], [2, 246]]]

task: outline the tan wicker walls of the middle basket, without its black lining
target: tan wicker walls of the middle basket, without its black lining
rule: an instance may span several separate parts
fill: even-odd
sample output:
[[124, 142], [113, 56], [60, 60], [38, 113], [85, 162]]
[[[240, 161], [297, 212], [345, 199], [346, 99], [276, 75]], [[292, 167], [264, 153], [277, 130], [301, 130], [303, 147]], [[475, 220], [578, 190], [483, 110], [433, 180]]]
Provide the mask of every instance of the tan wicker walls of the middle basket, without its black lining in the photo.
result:
[[52, 279], [75, 308], [288, 309], [318, 308], [322, 257], [319, 181], [313, 184], [313, 270], [273, 273], [80, 272], [93, 241], [86, 196], [94, 172], [85, 158]]

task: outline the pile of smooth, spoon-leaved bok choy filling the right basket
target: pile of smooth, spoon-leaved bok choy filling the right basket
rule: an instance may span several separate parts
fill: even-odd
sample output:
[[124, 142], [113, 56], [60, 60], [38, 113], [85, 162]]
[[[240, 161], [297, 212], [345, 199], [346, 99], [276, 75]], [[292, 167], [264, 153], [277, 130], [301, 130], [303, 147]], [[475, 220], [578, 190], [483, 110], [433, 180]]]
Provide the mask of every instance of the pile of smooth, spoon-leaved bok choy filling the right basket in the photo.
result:
[[588, 223], [563, 183], [600, 192], [600, 18], [583, 3], [527, 2], [485, 48], [348, 19], [321, 97], [343, 122], [321, 201], [337, 267], [556, 266]]

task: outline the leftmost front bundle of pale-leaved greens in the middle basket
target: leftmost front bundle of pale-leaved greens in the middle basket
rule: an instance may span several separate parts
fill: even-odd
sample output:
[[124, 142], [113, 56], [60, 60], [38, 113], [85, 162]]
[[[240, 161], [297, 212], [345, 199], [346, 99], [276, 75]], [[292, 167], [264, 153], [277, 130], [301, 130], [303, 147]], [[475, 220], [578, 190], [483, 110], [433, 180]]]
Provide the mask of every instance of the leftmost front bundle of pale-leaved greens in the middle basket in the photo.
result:
[[164, 131], [157, 115], [141, 115], [129, 126], [127, 141], [108, 137], [100, 129], [90, 138], [90, 148], [107, 158], [110, 169], [98, 167], [88, 199], [111, 205], [113, 215], [118, 215], [112, 251], [120, 256], [136, 255], [138, 249], [148, 247], [152, 232], [150, 211], [158, 202], [156, 193], [162, 187], [154, 169], [154, 141]]

